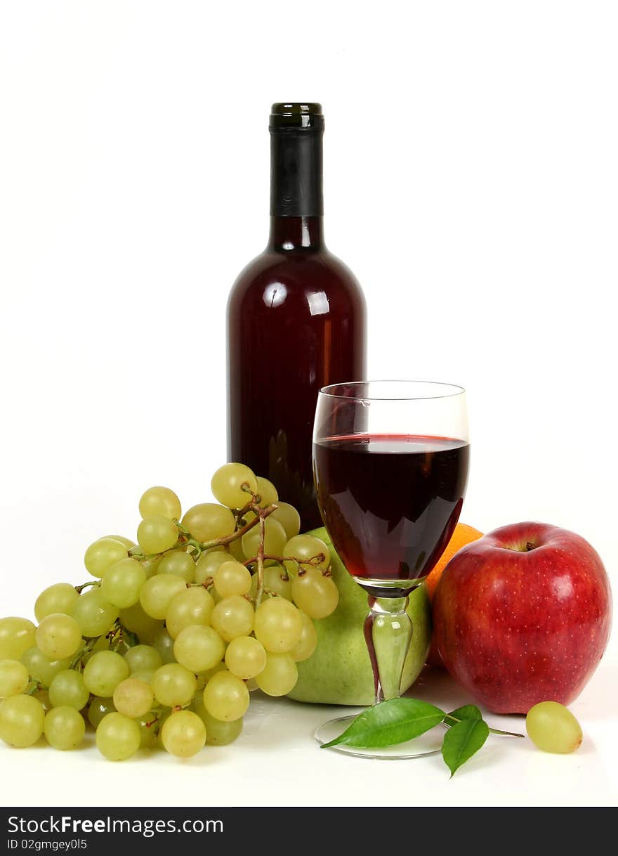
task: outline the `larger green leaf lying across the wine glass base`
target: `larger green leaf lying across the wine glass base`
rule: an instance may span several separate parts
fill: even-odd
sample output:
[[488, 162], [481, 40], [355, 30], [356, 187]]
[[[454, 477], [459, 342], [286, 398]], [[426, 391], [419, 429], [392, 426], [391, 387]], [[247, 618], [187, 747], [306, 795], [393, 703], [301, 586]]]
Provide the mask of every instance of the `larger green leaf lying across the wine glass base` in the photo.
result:
[[433, 704], [416, 698], [389, 698], [374, 704], [356, 717], [352, 725], [328, 746], [357, 746], [368, 749], [376, 746], [395, 746], [425, 734], [443, 721], [444, 711]]

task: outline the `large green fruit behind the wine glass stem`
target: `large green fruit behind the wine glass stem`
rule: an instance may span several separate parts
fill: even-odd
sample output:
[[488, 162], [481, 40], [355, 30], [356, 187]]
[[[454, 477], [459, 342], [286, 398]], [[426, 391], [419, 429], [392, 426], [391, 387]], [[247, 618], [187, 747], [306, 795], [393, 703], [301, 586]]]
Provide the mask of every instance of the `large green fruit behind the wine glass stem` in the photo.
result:
[[[296, 701], [320, 704], [373, 704], [373, 675], [363, 634], [363, 622], [369, 611], [367, 595], [343, 567], [324, 527], [309, 534], [322, 538], [329, 545], [339, 604], [332, 615], [314, 621], [318, 647], [308, 660], [298, 663], [298, 683], [288, 695]], [[407, 614], [412, 620], [413, 633], [403, 668], [401, 692], [418, 678], [431, 642], [431, 607], [425, 583], [410, 595]], [[391, 632], [391, 628], [385, 632]], [[393, 631], [394, 657], [395, 646]]]

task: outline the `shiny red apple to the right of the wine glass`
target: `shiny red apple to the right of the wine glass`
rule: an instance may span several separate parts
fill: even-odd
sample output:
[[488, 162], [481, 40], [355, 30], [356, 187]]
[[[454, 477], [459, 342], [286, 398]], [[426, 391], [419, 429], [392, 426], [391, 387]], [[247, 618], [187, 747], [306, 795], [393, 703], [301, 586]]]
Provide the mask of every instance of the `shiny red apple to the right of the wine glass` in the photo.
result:
[[496, 713], [569, 704], [607, 645], [611, 592], [584, 538], [514, 523], [467, 544], [433, 600], [437, 650], [455, 681]]

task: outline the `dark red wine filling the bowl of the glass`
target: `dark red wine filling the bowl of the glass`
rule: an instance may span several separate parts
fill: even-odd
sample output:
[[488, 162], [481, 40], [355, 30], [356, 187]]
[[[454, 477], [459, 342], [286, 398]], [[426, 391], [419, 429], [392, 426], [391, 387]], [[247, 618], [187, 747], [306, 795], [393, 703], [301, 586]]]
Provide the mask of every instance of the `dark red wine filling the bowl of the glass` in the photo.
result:
[[392, 591], [430, 573], [461, 512], [467, 443], [352, 434], [315, 443], [313, 458], [324, 523], [357, 582], [372, 580], [375, 591], [389, 581]]

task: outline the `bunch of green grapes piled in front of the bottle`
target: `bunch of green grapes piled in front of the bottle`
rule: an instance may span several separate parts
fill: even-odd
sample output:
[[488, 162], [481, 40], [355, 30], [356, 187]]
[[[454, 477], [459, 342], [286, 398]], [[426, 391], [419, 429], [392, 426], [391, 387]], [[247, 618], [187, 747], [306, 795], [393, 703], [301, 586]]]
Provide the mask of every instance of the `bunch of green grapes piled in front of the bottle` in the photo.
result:
[[249, 467], [225, 464], [211, 489], [184, 515], [173, 490], [146, 490], [137, 540], [86, 550], [90, 582], [42, 591], [37, 626], [0, 620], [0, 739], [67, 750], [92, 727], [110, 760], [188, 758], [241, 734], [250, 689], [294, 688], [312, 620], [338, 603], [329, 549]]

